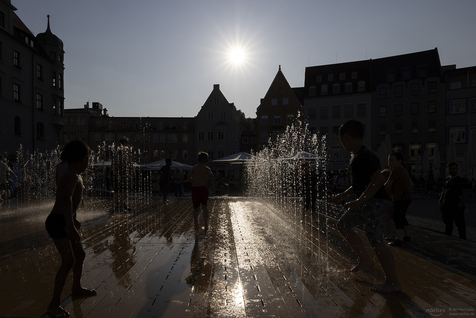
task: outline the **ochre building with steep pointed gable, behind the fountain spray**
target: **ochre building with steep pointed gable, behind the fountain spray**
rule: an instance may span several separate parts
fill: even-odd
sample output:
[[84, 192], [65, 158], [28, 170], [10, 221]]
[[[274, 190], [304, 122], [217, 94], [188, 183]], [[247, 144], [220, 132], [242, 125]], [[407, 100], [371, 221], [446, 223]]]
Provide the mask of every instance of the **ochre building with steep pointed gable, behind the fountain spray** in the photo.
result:
[[278, 73], [256, 109], [258, 151], [268, 144], [269, 138], [271, 142], [276, 140], [298, 113], [303, 112], [302, 98], [298, 98], [302, 95], [302, 88], [292, 88], [279, 65]]

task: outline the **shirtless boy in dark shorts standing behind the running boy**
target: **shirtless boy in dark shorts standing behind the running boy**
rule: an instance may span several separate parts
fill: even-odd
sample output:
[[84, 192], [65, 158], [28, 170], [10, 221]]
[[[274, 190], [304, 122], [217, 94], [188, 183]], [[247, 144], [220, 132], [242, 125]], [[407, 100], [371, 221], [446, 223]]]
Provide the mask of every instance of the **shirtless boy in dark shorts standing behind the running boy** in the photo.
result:
[[392, 219], [397, 230], [397, 239], [388, 243], [389, 246], [401, 246], [404, 242], [411, 242], [410, 226], [407, 221], [408, 205], [412, 202], [413, 182], [403, 167], [403, 154], [391, 153], [388, 155], [388, 166], [392, 172], [385, 183], [385, 189], [391, 189], [393, 200]]

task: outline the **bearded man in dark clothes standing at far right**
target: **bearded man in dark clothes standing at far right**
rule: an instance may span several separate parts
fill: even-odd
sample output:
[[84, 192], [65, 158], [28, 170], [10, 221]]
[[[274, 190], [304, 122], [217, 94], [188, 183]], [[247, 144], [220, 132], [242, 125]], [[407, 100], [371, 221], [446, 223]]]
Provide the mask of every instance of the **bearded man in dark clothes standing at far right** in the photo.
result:
[[469, 193], [469, 182], [458, 174], [458, 165], [454, 162], [446, 164], [448, 176], [443, 183], [439, 204], [445, 234], [453, 233], [453, 220], [458, 228], [459, 238], [466, 240], [465, 202]]

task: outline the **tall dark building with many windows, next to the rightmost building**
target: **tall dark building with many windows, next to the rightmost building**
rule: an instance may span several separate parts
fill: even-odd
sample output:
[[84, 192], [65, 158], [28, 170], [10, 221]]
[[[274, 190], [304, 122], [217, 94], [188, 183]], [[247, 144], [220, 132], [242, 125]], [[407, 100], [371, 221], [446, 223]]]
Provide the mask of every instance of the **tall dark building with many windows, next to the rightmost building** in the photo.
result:
[[445, 160], [445, 93], [436, 48], [372, 60], [372, 149], [388, 134], [408, 170], [425, 150], [431, 165], [436, 146]]

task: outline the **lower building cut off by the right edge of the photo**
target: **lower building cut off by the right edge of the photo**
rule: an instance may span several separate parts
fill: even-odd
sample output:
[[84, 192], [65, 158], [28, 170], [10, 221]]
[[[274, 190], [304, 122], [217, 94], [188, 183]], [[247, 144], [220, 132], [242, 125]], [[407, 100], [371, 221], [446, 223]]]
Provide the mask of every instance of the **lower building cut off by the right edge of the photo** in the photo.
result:
[[[447, 68], [446, 85], [446, 147], [453, 139], [456, 149], [456, 162], [463, 161], [468, 151], [469, 136], [476, 130], [476, 66], [456, 69]], [[459, 173], [463, 174], [460, 167]]]

